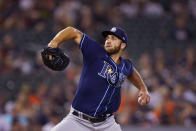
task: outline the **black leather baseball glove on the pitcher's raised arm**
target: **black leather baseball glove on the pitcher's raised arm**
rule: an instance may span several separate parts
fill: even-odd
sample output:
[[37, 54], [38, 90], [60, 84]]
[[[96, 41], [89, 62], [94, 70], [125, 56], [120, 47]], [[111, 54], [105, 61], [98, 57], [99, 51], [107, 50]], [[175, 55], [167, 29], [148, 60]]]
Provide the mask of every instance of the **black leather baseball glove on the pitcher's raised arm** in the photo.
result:
[[64, 70], [70, 62], [60, 48], [46, 47], [41, 51], [41, 56], [43, 63], [54, 71]]

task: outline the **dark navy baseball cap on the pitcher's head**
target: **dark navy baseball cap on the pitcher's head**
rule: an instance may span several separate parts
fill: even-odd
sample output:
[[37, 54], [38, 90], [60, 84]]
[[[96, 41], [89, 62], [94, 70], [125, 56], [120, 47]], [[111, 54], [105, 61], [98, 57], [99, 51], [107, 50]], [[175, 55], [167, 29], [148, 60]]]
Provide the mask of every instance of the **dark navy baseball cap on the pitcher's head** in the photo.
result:
[[104, 38], [106, 38], [107, 35], [115, 35], [116, 37], [121, 39], [126, 44], [128, 41], [126, 32], [122, 28], [119, 28], [119, 27], [112, 27], [112, 29], [110, 29], [109, 31], [103, 31], [102, 35]]

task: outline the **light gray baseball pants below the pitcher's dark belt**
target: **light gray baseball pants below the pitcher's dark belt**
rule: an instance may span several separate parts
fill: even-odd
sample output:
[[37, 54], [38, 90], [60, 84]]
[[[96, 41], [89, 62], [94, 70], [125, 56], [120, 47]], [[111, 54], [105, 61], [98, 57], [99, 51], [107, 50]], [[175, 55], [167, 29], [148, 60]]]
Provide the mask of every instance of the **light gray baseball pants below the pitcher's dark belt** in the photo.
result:
[[103, 122], [92, 123], [70, 113], [51, 131], [122, 131], [120, 125], [115, 122], [114, 116], [107, 118]]

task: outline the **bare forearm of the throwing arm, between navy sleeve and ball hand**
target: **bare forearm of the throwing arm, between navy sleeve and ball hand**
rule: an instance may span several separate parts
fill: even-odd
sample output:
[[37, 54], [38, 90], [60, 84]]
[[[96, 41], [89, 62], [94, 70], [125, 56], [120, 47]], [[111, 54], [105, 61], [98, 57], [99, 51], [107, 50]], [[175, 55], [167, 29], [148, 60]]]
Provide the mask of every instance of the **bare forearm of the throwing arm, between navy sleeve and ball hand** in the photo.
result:
[[147, 91], [147, 87], [142, 80], [140, 74], [137, 72], [136, 69], [134, 69], [131, 76], [128, 77], [128, 80], [139, 90], [141, 91]]

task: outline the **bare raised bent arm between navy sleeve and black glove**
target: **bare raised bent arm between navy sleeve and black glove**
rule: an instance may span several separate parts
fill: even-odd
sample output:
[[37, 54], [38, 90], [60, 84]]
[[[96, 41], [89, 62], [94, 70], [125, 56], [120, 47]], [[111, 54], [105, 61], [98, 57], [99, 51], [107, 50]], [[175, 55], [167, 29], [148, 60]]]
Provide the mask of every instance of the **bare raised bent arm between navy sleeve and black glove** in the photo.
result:
[[82, 33], [73, 27], [67, 27], [57, 33], [57, 35], [48, 44], [49, 47], [56, 48], [66, 40], [74, 40], [77, 44], [80, 43]]

